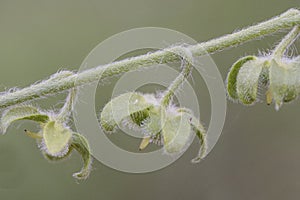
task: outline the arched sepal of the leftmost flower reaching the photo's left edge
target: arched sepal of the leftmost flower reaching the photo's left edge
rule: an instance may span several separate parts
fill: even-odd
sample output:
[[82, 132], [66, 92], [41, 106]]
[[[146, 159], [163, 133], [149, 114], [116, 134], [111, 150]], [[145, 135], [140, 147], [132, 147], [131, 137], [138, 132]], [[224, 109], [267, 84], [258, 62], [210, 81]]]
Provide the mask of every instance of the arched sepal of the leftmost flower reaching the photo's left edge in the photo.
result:
[[46, 123], [49, 117], [34, 106], [24, 105], [13, 107], [4, 111], [1, 117], [1, 132], [4, 134], [11, 123], [19, 120], [32, 120], [38, 123]]

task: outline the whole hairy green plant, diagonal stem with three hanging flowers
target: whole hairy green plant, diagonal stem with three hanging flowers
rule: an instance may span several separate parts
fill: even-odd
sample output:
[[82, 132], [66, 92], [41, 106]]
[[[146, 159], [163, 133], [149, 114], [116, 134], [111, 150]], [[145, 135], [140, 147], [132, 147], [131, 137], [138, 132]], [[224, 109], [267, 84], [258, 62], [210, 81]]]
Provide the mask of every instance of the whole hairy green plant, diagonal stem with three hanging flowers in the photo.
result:
[[[39, 131], [25, 130], [25, 134], [37, 141], [44, 157], [59, 161], [69, 157], [73, 150], [77, 151], [82, 157], [83, 167], [73, 176], [86, 179], [92, 169], [89, 142], [70, 128], [77, 88], [147, 66], [181, 61], [181, 73], [164, 92], [143, 94], [130, 91], [121, 94], [104, 106], [99, 123], [107, 133], [122, 126], [142, 132], [144, 138], [138, 147], [140, 150], [155, 143], [162, 145], [169, 155], [182, 153], [191, 143], [192, 136], [196, 135], [200, 147], [192, 162], [198, 163], [206, 156], [205, 128], [189, 108], [180, 107], [173, 101], [182, 84], [191, 76], [194, 59], [275, 32], [291, 30], [271, 53], [240, 58], [233, 64], [226, 79], [228, 97], [234, 102], [253, 105], [258, 101], [258, 93], [264, 89], [267, 104], [274, 103], [278, 110], [282, 104], [297, 99], [300, 94], [300, 57], [287, 55], [289, 47], [300, 34], [299, 26], [300, 11], [290, 9], [267, 21], [196, 45], [171, 46], [78, 73], [58, 72], [29, 87], [1, 93], [0, 131], [7, 133], [7, 128], [19, 120], [36, 122]], [[67, 91], [68, 96], [59, 112], [33, 106], [34, 100], [63, 91]]]

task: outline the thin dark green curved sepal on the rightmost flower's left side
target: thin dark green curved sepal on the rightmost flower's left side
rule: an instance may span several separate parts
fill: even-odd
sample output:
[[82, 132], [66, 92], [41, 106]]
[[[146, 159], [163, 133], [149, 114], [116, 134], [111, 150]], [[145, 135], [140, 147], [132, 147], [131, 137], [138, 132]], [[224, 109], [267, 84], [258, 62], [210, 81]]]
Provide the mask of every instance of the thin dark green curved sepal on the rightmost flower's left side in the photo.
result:
[[248, 62], [250, 60], [256, 60], [256, 57], [255, 56], [246, 56], [246, 57], [240, 58], [230, 68], [230, 71], [227, 75], [227, 93], [228, 93], [228, 96], [232, 100], [238, 99], [236, 81], [237, 81], [237, 75], [239, 73], [239, 70], [246, 62]]

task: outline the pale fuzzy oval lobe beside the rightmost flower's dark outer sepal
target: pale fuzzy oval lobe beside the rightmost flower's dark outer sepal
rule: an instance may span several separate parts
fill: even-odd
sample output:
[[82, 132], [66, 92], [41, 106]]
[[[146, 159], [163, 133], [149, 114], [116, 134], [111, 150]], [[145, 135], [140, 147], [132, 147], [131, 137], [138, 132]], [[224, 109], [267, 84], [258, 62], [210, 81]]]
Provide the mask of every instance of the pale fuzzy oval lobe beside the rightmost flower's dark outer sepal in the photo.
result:
[[256, 101], [264, 64], [263, 59], [254, 59], [244, 63], [240, 68], [236, 80], [236, 91], [241, 103], [250, 105]]

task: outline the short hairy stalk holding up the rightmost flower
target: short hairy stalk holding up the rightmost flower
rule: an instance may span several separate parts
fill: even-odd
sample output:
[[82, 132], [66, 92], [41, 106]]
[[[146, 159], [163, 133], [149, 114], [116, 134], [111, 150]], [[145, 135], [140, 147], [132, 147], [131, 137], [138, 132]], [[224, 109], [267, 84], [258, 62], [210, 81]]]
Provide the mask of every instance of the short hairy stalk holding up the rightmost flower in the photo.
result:
[[295, 26], [289, 34], [287, 34], [273, 51], [273, 57], [281, 59], [289, 46], [294, 43], [300, 34], [300, 26]]

